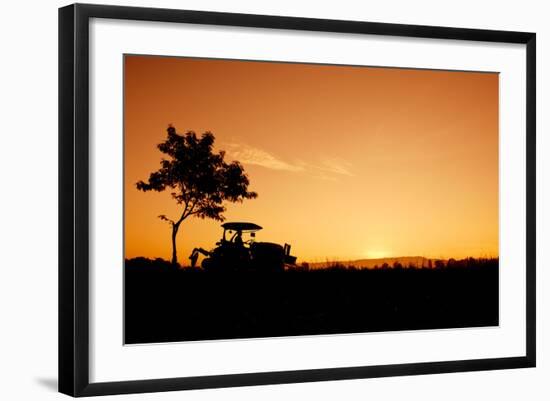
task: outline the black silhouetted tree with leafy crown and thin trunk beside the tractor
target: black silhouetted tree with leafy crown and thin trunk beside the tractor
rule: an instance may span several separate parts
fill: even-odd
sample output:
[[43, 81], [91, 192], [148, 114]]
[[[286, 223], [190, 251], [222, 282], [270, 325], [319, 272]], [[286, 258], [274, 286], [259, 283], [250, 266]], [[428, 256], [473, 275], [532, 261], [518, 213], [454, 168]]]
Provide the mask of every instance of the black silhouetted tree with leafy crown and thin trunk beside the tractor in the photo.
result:
[[169, 189], [181, 205], [177, 219], [158, 216], [172, 227], [172, 263], [177, 264], [176, 236], [185, 219], [196, 216], [223, 221], [225, 201], [242, 202], [258, 195], [248, 191], [249, 180], [239, 162], [226, 163], [225, 152], [213, 151], [215, 138], [211, 132], [199, 138], [193, 131], [179, 135], [172, 126], [167, 131], [166, 140], [157, 145], [167, 159], [161, 160], [160, 169], [151, 173], [147, 182], [139, 181], [136, 186], [141, 191]]

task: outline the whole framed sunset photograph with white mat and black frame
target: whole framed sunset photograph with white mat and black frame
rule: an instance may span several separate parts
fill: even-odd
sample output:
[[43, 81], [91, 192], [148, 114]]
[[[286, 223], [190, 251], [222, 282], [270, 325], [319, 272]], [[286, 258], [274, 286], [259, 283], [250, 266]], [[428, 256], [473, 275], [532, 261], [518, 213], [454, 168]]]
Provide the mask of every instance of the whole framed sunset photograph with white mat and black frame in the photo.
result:
[[535, 34], [59, 10], [59, 390], [535, 366]]

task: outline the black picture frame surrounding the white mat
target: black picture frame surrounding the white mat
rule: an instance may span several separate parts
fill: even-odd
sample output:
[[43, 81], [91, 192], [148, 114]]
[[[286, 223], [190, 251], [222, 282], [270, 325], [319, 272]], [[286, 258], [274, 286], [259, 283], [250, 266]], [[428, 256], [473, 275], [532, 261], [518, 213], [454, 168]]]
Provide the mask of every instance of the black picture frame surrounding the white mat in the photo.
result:
[[[90, 383], [89, 21], [91, 18], [276, 28], [526, 45], [526, 354], [520, 357]], [[95, 396], [535, 366], [536, 35], [479, 29], [74, 4], [59, 9], [59, 391]]]

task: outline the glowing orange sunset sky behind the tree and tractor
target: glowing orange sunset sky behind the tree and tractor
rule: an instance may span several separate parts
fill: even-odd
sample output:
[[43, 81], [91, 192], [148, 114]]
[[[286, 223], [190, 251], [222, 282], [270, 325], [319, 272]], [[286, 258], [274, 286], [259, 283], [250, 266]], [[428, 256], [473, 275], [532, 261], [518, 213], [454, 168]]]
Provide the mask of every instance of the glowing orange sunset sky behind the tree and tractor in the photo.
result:
[[[498, 256], [498, 74], [125, 57], [126, 257], [170, 259], [159, 167], [168, 124], [212, 131], [258, 198], [227, 221], [264, 227], [298, 261]], [[178, 256], [218, 222], [180, 227]]]

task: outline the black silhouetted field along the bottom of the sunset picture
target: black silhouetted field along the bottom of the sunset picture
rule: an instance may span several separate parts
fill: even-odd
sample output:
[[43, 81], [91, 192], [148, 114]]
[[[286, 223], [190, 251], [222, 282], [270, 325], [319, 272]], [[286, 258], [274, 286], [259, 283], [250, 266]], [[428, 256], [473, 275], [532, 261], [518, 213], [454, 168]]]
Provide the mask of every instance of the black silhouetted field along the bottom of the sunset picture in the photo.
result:
[[498, 325], [498, 259], [207, 273], [126, 261], [125, 343]]

